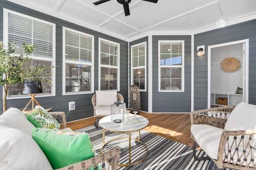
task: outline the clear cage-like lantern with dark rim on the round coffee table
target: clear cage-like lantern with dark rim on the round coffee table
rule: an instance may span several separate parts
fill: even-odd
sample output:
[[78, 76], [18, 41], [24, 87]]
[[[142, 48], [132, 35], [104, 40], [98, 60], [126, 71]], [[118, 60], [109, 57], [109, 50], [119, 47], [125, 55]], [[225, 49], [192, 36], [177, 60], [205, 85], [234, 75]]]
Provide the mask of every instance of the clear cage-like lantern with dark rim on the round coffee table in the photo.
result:
[[124, 121], [125, 112], [126, 104], [124, 102], [114, 102], [114, 104], [111, 104], [111, 121], [121, 123]]

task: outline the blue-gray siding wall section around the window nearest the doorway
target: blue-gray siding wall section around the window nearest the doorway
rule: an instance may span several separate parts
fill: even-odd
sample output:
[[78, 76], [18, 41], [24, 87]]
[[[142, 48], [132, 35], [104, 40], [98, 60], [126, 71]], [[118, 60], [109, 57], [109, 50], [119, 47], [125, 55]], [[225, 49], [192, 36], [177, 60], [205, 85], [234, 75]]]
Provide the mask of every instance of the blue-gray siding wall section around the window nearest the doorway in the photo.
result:
[[[185, 42], [185, 90], [184, 92], [158, 92], [158, 41], [184, 40]], [[190, 112], [191, 111], [191, 36], [159, 35], [152, 37], [152, 111]]]

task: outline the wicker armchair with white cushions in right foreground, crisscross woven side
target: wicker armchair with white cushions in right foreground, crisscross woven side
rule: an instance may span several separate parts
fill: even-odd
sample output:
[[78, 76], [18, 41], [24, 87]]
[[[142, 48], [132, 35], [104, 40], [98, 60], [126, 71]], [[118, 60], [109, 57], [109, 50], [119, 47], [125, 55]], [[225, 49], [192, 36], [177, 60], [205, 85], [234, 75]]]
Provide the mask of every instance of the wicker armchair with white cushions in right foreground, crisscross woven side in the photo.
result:
[[[192, 111], [190, 113], [191, 138], [195, 141], [193, 145], [195, 160], [211, 159], [218, 168], [255, 170], [256, 163], [254, 160], [256, 149], [254, 148], [252, 138], [253, 135], [256, 134], [256, 129], [224, 130], [228, 117], [235, 107], [236, 106], [221, 106]], [[242, 111], [242, 114], [245, 112], [246, 110]], [[233, 114], [236, 113], [233, 112]], [[252, 119], [253, 120], [248, 120], [248, 123], [250, 121], [255, 122], [254, 118]], [[212, 129], [212, 131], [208, 129]], [[218, 133], [217, 136], [219, 139], [215, 139], [216, 135], [212, 137], [216, 133]], [[219, 142], [214, 146], [212, 145], [213, 140]], [[197, 145], [208, 154], [207, 157], [196, 157]], [[201, 145], [204, 145], [204, 147]], [[215, 158], [213, 158], [214, 156], [210, 156], [213, 154], [216, 155]]]

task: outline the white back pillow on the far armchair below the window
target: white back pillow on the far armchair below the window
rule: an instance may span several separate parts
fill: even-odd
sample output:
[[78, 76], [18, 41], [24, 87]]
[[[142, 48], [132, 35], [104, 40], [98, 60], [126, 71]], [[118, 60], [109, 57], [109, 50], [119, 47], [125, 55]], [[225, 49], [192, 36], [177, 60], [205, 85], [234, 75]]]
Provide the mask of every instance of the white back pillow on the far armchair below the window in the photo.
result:
[[117, 102], [117, 91], [96, 90], [96, 106], [111, 106]]

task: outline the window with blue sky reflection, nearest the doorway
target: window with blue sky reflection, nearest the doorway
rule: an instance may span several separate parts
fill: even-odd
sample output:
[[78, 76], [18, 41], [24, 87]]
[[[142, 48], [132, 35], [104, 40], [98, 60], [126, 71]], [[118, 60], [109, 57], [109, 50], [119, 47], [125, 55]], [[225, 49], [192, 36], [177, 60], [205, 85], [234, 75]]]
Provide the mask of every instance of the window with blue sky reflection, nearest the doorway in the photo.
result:
[[159, 92], [184, 92], [184, 41], [158, 41]]

